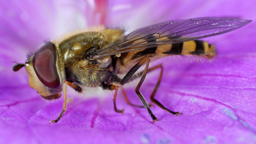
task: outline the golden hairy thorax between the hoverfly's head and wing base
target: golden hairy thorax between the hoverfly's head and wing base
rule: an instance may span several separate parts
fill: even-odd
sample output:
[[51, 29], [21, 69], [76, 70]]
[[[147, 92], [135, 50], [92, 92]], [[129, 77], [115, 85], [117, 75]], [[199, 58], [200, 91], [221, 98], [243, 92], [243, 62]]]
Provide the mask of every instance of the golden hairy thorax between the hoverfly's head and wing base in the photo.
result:
[[74, 79], [87, 87], [100, 86], [111, 67], [112, 59], [107, 56], [86, 60], [85, 56], [91, 51], [108, 48], [122, 36], [123, 31], [120, 29], [105, 29], [101, 32], [78, 33], [59, 43], [67, 79]]

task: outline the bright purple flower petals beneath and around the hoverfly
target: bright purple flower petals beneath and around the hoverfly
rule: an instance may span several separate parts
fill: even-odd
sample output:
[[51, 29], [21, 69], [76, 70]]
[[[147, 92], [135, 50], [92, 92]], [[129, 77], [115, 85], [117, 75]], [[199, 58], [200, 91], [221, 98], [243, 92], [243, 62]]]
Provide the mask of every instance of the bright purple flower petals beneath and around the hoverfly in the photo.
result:
[[[0, 6], [0, 143], [256, 143], [256, 1], [2, 1]], [[209, 37], [218, 55], [212, 61], [172, 56], [161, 60], [163, 80], [156, 99], [183, 112], [173, 116], [154, 105], [128, 105], [119, 91], [113, 109], [110, 92], [88, 99], [68, 89], [73, 101], [56, 124], [63, 99], [42, 99], [28, 85], [24, 63], [44, 41], [92, 25], [124, 25], [128, 32], [161, 21], [193, 17], [254, 20], [235, 31]], [[157, 72], [146, 77], [141, 92], [149, 101]], [[127, 84], [129, 99], [140, 104]], [[104, 97], [104, 98], [102, 98]]]

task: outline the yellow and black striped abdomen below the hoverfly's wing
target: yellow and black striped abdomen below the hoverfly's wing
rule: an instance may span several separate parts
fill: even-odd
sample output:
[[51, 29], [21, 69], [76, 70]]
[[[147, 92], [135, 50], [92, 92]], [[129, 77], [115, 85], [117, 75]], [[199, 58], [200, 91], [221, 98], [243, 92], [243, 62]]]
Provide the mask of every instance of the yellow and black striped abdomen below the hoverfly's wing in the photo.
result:
[[208, 44], [207, 41], [191, 40], [122, 53], [118, 59], [120, 65], [125, 68], [127, 64], [133, 65], [133, 63], [137, 63], [139, 58], [146, 55], [152, 57], [151, 60], [169, 55], [197, 55], [212, 59], [216, 56], [216, 49], [214, 45]]

